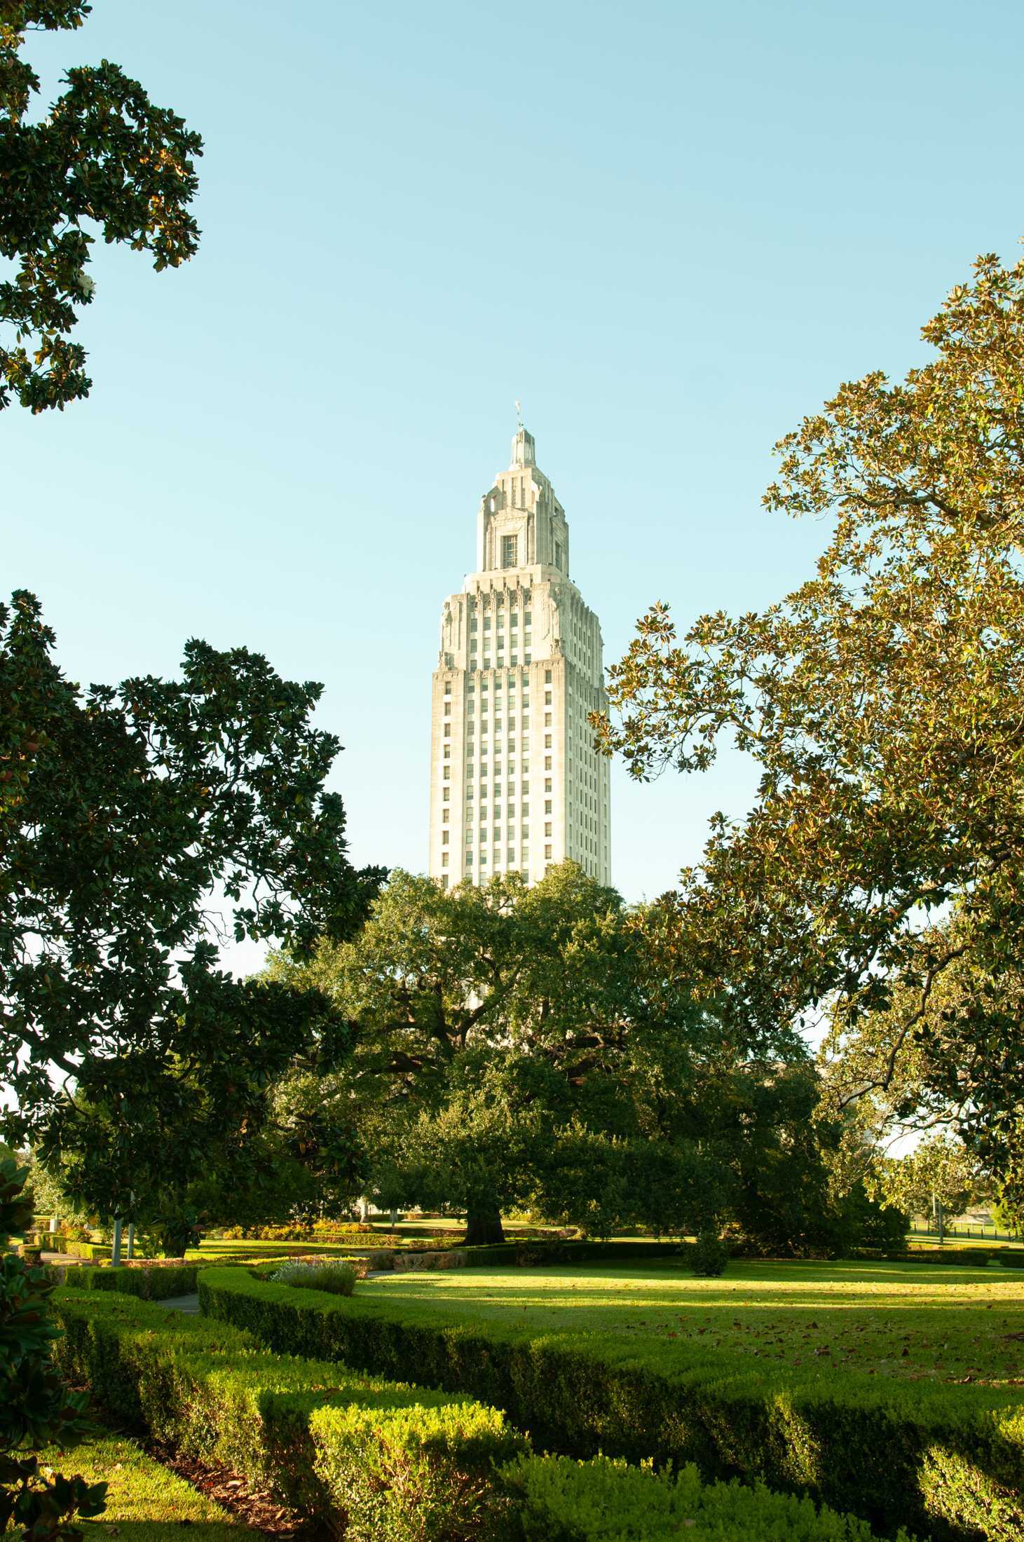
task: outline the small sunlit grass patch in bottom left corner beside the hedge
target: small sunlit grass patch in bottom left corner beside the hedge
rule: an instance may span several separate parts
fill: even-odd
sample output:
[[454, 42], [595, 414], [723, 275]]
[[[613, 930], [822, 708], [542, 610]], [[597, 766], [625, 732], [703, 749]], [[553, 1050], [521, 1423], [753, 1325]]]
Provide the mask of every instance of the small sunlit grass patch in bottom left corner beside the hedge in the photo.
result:
[[108, 1485], [103, 1516], [79, 1522], [86, 1539], [258, 1542], [261, 1536], [123, 1436], [102, 1436], [68, 1453], [48, 1451], [43, 1460], [59, 1473]]

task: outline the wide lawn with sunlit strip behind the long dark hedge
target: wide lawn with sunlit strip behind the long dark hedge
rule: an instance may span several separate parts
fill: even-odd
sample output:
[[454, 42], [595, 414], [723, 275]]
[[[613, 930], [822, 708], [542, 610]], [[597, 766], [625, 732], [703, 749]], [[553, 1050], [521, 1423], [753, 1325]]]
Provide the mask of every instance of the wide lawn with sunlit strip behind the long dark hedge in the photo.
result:
[[[783, 1382], [844, 1375], [1024, 1385], [1024, 1278], [911, 1263], [734, 1263], [720, 1280], [657, 1268], [481, 1269], [382, 1275], [356, 1298], [452, 1323], [592, 1335], [620, 1362], [671, 1374], [694, 1349], [760, 1362]], [[591, 1348], [595, 1348], [591, 1345]], [[774, 1377], [773, 1377], [774, 1380]]]

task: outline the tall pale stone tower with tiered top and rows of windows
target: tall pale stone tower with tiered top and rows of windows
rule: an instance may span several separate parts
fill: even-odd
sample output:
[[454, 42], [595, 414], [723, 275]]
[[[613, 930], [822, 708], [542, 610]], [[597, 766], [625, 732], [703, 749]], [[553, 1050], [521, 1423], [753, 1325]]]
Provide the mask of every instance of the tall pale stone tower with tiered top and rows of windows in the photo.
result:
[[444, 601], [430, 717], [430, 876], [535, 884], [572, 859], [611, 882], [601, 629], [569, 578], [569, 526], [520, 427], [477, 515], [477, 572]]

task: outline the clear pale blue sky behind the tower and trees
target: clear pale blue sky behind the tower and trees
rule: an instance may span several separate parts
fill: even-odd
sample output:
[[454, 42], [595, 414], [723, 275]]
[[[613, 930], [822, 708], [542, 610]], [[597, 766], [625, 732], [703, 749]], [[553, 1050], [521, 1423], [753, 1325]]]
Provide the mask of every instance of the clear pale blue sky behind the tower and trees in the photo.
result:
[[[177, 273], [100, 250], [93, 396], [0, 416], [2, 588], [72, 678], [200, 635], [322, 680], [364, 862], [426, 865], [440, 606], [517, 396], [611, 662], [655, 598], [808, 572], [773, 443], [1024, 233], [1016, 0], [96, 0], [29, 48], [48, 94], [109, 57], [204, 134], [204, 236]], [[617, 768], [618, 887], [749, 786]]]

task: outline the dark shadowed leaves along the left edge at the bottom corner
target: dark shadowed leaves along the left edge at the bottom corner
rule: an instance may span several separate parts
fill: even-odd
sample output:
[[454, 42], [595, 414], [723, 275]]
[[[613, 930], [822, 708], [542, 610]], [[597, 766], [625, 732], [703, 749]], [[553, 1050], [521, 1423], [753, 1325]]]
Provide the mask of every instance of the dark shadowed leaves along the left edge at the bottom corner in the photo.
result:
[[[28, 1169], [0, 1161], [0, 1244], [32, 1220], [25, 1198]], [[14, 1252], [0, 1252], [0, 1531], [25, 1542], [82, 1542], [74, 1517], [103, 1510], [106, 1483], [48, 1477], [39, 1451], [69, 1449], [88, 1434], [86, 1397], [69, 1392], [52, 1363], [57, 1326], [49, 1314], [52, 1281]]]

